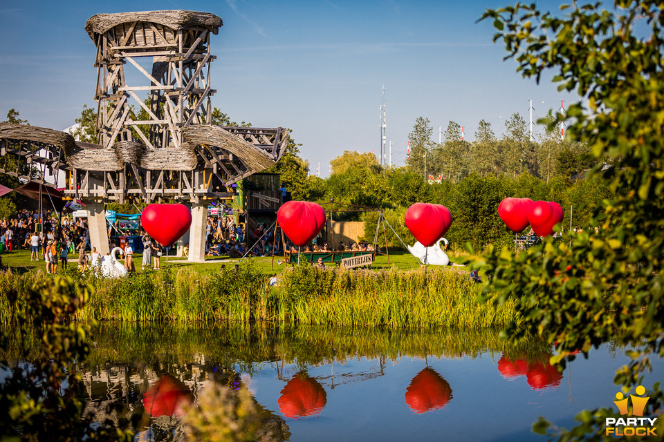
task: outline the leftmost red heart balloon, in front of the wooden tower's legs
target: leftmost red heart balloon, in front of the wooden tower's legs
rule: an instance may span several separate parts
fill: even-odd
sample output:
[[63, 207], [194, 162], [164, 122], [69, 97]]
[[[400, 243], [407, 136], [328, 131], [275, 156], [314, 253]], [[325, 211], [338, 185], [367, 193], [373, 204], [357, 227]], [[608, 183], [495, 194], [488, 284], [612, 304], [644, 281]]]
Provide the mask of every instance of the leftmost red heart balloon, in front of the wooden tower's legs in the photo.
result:
[[140, 214], [140, 224], [163, 247], [180, 238], [192, 225], [192, 213], [183, 204], [150, 204]]

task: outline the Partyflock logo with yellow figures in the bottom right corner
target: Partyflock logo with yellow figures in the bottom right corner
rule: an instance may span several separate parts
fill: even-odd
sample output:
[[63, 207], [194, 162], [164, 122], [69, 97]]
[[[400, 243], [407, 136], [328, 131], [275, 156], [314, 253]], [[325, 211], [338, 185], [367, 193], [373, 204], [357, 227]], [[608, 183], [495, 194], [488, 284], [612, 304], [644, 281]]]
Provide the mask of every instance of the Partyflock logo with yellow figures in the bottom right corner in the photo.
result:
[[[643, 396], [645, 393], [645, 387], [639, 385], [636, 387], [636, 394], [630, 394], [631, 397], [631, 415], [639, 417], [619, 417], [618, 419], [614, 417], [607, 417], [607, 436], [613, 434], [614, 436], [657, 436], [655, 434], [656, 428], [654, 427], [655, 422], [657, 421], [656, 417], [649, 418], [643, 417], [643, 410], [645, 410], [645, 405], [648, 403], [650, 396]], [[628, 414], [627, 402], [629, 398], [623, 396], [623, 393], [616, 393], [617, 401], [614, 401], [618, 407], [618, 411], [622, 416]], [[646, 426], [649, 424], [649, 426]]]

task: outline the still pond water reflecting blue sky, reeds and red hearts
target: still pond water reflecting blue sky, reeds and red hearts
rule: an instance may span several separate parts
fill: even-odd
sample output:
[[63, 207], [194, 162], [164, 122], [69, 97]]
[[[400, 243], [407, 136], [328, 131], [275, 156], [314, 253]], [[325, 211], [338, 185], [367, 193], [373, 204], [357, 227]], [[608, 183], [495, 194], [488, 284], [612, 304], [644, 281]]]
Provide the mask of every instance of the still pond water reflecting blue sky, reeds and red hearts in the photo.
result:
[[104, 325], [77, 369], [89, 410], [122, 401], [142, 413], [141, 441], [178, 439], [178, 401], [211, 382], [248, 387], [275, 440], [290, 441], [545, 441], [531, 432], [538, 416], [571, 427], [580, 410], [613, 405], [623, 349], [600, 347], [560, 373], [544, 343], [497, 335]]

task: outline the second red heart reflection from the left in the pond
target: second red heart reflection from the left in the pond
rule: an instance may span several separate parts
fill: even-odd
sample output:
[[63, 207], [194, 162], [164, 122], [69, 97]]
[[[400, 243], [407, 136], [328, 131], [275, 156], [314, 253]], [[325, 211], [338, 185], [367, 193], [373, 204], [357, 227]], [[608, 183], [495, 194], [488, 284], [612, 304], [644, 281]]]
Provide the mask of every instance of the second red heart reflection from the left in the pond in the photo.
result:
[[298, 419], [320, 414], [327, 403], [327, 394], [318, 381], [300, 372], [284, 386], [278, 403], [284, 416]]

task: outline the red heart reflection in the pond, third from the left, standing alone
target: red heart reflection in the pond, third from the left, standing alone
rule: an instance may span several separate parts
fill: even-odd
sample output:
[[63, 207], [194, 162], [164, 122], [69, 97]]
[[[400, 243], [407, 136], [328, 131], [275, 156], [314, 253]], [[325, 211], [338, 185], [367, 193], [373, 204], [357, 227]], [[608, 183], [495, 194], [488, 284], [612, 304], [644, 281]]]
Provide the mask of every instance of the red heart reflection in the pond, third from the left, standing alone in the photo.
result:
[[452, 387], [436, 370], [425, 367], [410, 381], [405, 397], [414, 413], [430, 412], [452, 401]]

